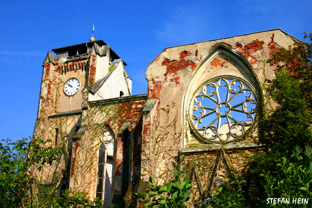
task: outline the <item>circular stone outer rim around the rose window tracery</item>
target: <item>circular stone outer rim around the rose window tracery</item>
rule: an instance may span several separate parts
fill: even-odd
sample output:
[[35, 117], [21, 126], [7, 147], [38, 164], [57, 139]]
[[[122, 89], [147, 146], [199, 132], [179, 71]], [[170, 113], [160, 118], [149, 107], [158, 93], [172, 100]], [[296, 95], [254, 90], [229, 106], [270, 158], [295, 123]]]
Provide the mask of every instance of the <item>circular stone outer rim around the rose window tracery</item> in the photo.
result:
[[[195, 123], [193, 121], [193, 118], [192, 118], [192, 115], [193, 115], [193, 108], [194, 108], [194, 98], [195, 96], [199, 95], [199, 93], [202, 91], [202, 88], [204, 86], [207, 86], [207, 84], [209, 83], [214, 83], [214, 82], [219, 82], [219, 80], [222, 80], [222, 79], [225, 79], [225, 80], [239, 80], [240, 82], [242, 82], [244, 85], [246, 85], [247, 88], [244, 88], [244, 89], [251, 89], [251, 91], [253, 92], [253, 95], [254, 95], [254, 100], [256, 101], [256, 108], [253, 110], [253, 112], [255, 113], [255, 116], [253, 117], [253, 121], [251, 124], [248, 125], [248, 128], [246, 130], [244, 130], [244, 132], [239, 135], [239, 136], [235, 136], [235, 137], [232, 137], [233, 139], [229, 139], [231, 138], [228, 137], [226, 140], [222, 140], [220, 139], [219, 141], [216, 141], [216, 139], [209, 139], [207, 137], [205, 137], [199, 130], [198, 128], [195, 127]], [[236, 83], [236, 82], [235, 82]], [[223, 85], [224, 86], [224, 85]], [[231, 85], [230, 85], [231, 86]], [[241, 90], [241, 89], [240, 89]], [[239, 90], [239, 91], [240, 91]], [[258, 94], [258, 91], [255, 89], [255, 87], [247, 80], [241, 78], [240, 76], [236, 76], [236, 75], [219, 75], [219, 76], [216, 76], [216, 77], [213, 77], [211, 79], [209, 79], [208, 81], [202, 83], [202, 85], [200, 85], [199, 87], [197, 87], [197, 89], [194, 91], [195, 93], [193, 93], [192, 95], [192, 99], [190, 100], [190, 103], [188, 104], [188, 123], [190, 124], [190, 127], [191, 127], [191, 131], [197, 136], [197, 139], [200, 141], [200, 142], [203, 142], [203, 143], [207, 143], [207, 144], [222, 144], [222, 143], [231, 143], [231, 142], [234, 142], [234, 141], [237, 141], [239, 140], [241, 137], [243, 136], [246, 136], [248, 135], [248, 133], [250, 133], [250, 130], [253, 129], [254, 125], [256, 124], [257, 120], [258, 120], [258, 117], [259, 117], [259, 109], [261, 109], [261, 104], [259, 103], [259, 94]], [[213, 91], [215, 92], [215, 91]], [[214, 96], [214, 95], [213, 95]], [[207, 96], [208, 97], [208, 96]], [[198, 101], [197, 101], [198, 102]], [[230, 101], [231, 102], [231, 101]], [[229, 102], [229, 103], [230, 103]], [[245, 100], [245, 102], [247, 103], [248, 101]], [[220, 103], [223, 103], [223, 102], [219, 102]], [[216, 105], [219, 105], [216, 103]], [[231, 110], [231, 109], [230, 109]], [[201, 116], [200, 116], [201, 117]], [[198, 117], [197, 117], [198, 118]], [[218, 118], [218, 117], [217, 117]], [[217, 119], [218, 120], [218, 119]], [[231, 125], [234, 126], [236, 125], [237, 123], [234, 123]], [[214, 126], [215, 127], [215, 126]], [[229, 131], [230, 133], [230, 131]], [[231, 133], [232, 134], [232, 133]]]

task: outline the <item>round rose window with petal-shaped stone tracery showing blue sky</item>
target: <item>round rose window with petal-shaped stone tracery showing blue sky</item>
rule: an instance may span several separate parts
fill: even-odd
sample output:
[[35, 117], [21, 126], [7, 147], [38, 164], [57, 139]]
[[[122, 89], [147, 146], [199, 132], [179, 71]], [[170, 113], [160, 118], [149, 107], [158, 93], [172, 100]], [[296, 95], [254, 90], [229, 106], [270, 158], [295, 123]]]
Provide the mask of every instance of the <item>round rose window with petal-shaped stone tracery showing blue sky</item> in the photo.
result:
[[191, 119], [206, 142], [222, 143], [243, 135], [256, 118], [256, 93], [236, 77], [206, 82], [191, 103]]

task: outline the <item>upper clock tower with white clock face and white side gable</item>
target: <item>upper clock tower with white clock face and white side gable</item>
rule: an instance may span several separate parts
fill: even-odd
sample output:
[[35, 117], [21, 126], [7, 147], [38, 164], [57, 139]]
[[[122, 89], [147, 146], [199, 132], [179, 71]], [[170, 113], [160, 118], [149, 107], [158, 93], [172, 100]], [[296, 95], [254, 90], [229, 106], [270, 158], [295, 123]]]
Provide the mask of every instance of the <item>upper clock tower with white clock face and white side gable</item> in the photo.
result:
[[56, 57], [49, 51], [43, 62], [38, 118], [81, 111], [88, 101], [131, 95], [127, 64], [104, 41], [52, 51]]

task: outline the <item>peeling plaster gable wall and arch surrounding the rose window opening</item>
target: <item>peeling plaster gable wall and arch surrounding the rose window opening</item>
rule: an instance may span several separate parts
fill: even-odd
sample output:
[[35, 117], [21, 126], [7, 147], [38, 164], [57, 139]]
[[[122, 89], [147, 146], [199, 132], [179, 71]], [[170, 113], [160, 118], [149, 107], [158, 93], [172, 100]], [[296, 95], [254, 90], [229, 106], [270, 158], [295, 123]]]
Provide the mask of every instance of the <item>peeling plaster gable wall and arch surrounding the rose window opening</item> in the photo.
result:
[[[287, 48], [295, 41], [297, 40], [277, 29], [164, 49], [147, 68], [146, 79], [148, 99], [158, 99], [157, 116], [152, 125], [164, 128], [168, 123], [175, 123], [175, 128], [167, 128], [166, 135], [166, 143], [172, 148], [171, 157], [176, 156], [174, 153], [178, 150], [185, 150], [190, 141], [201, 144], [187, 123], [190, 99], [198, 86], [218, 75], [235, 75], [254, 86], [260, 99], [261, 93], [264, 93], [261, 84], [274, 76], [274, 67], [264, 67], [264, 61], [280, 47]], [[226, 50], [215, 50], [219, 44], [226, 47]], [[234, 54], [239, 58], [234, 59]], [[261, 100], [258, 100], [258, 104], [261, 105]], [[181, 137], [177, 138], [177, 135]], [[220, 149], [222, 145], [206, 151], [218, 152]], [[200, 153], [194, 151], [188, 151], [189, 157], [195, 158]], [[228, 151], [225, 152], [225, 155], [229, 154]], [[166, 161], [159, 161], [158, 167], [167, 165], [169, 160], [170, 157], [167, 157]], [[238, 166], [238, 163], [234, 163], [233, 167]], [[212, 170], [210, 173], [214, 174]]]

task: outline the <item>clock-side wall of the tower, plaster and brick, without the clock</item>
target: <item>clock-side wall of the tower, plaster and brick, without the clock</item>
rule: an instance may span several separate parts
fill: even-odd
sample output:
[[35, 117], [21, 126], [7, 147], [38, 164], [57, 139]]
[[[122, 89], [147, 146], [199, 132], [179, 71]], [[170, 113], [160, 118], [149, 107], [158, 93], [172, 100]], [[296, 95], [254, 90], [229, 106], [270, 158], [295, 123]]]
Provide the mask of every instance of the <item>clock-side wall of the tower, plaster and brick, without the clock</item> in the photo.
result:
[[[85, 83], [86, 59], [68, 62], [67, 59], [54, 59], [49, 51], [43, 64], [42, 84], [38, 117], [33, 133], [34, 138], [50, 139], [47, 146], [64, 147], [61, 155], [61, 163], [46, 165], [41, 172], [33, 170], [37, 180], [42, 183], [58, 183], [61, 175], [68, 170], [68, 157], [71, 152], [71, 139], [76, 131], [76, 126], [81, 123], [79, 114], [63, 114], [55, 116], [58, 111], [70, 111], [81, 109], [81, 90]], [[64, 83], [71, 77], [80, 80], [80, 89], [76, 97], [67, 97], [63, 93]], [[80, 99], [79, 99], [80, 98]], [[56, 133], [56, 128], [58, 133]], [[56, 142], [57, 140], [57, 142]]]

